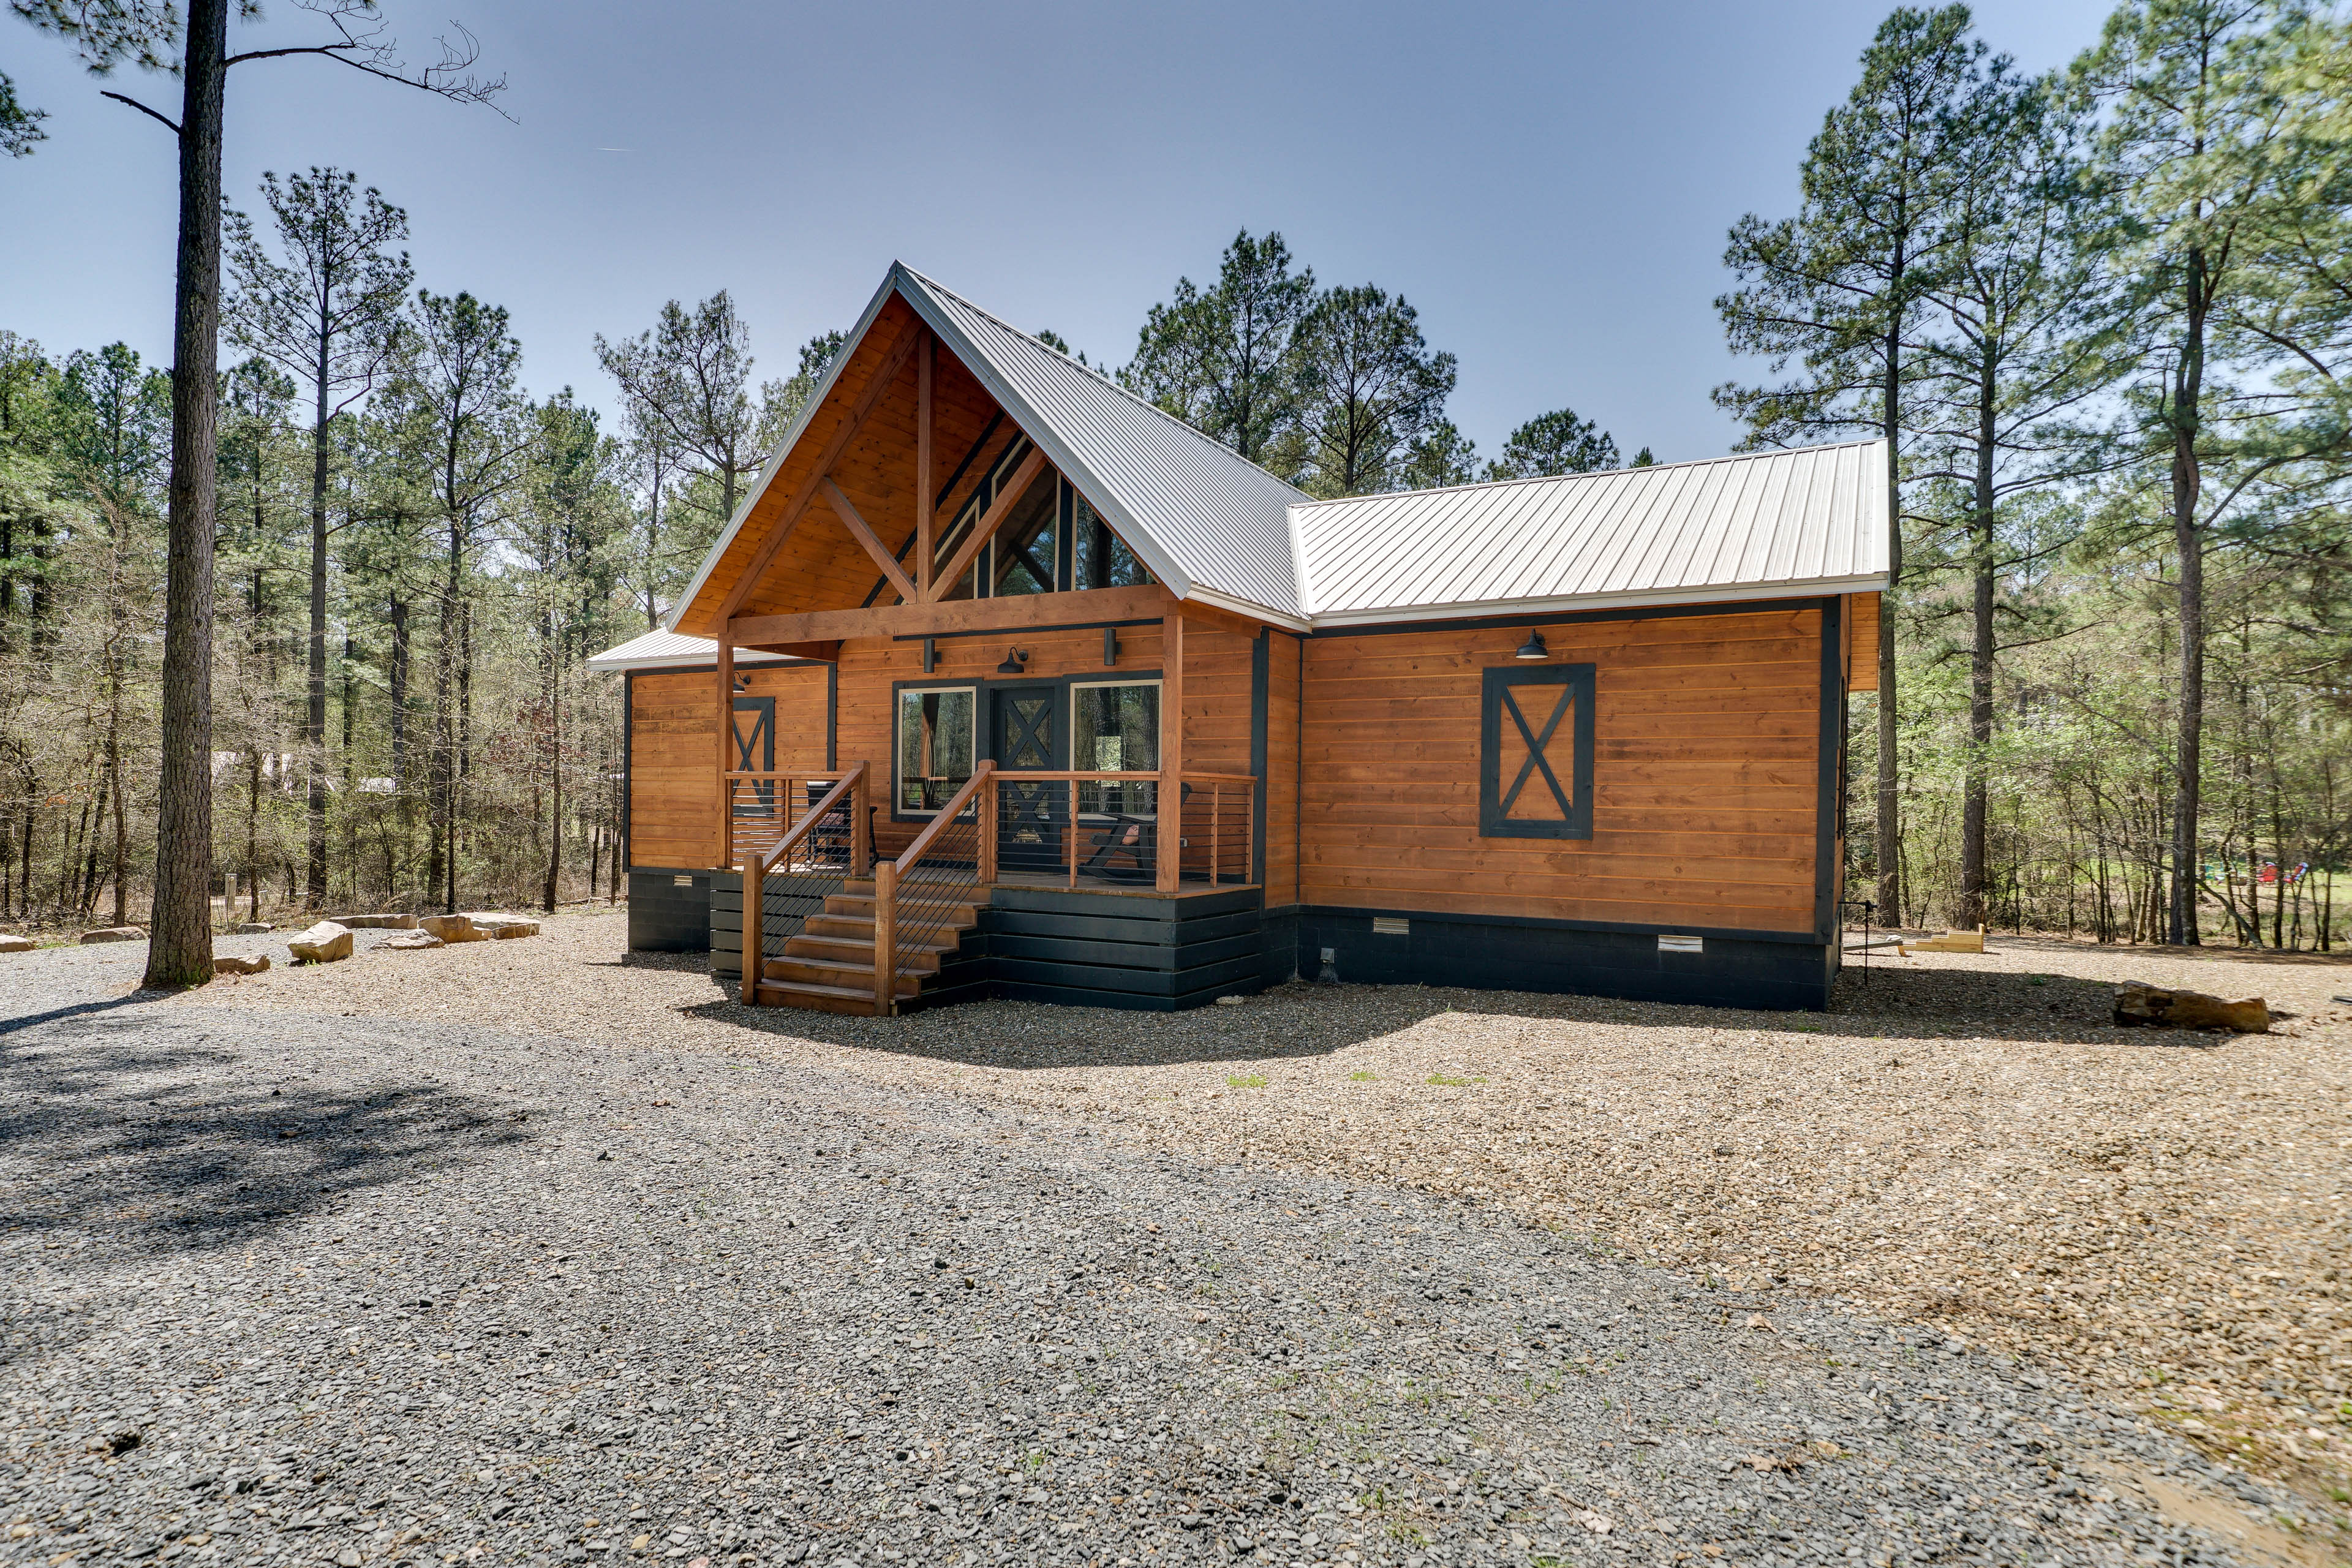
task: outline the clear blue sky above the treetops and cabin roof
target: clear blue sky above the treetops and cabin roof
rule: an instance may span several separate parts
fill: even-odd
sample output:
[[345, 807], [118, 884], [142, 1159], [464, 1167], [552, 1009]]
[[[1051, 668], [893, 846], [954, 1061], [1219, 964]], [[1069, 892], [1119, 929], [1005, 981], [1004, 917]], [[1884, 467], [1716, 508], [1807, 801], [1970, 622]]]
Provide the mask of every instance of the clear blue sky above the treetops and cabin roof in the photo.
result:
[[[1712, 456], [1743, 374], [1712, 299], [1724, 228], [1795, 205], [1797, 160], [1882, 5], [717, 5], [386, 0], [506, 73], [513, 122], [289, 59], [230, 73], [230, 200], [263, 169], [355, 169], [409, 209], [419, 280], [513, 310], [534, 393], [612, 407], [590, 336], [731, 289], [760, 376], [847, 324], [891, 259], [1124, 362], [1178, 273], [1279, 228], [1327, 282], [1374, 280], [1461, 357], [1491, 454], [1571, 404], [1630, 454]], [[1999, 0], [2027, 68], [2105, 5]], [[238, 47], [318, 28], [270, 7]], [[0, 162], [0, 327], [52, 353], [169, 346], [174, 158], [54, 40], [0, 16], [0, 68], [52, 110]], [[113, 87], [176, 113], [176, 85]], [[1745, 374], [1755, 374], [1752, 367]]]

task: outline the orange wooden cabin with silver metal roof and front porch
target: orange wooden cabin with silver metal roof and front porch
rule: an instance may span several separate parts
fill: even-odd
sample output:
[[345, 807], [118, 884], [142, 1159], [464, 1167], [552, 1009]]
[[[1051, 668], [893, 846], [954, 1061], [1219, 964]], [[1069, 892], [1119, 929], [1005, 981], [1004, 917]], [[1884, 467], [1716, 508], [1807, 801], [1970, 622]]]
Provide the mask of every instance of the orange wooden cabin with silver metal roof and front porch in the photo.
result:
[[1884, 585], [1877, 442], [1315, 501], [894, 266], [595, 661], [630, 940], [854, 1013], [1820, 1006]]

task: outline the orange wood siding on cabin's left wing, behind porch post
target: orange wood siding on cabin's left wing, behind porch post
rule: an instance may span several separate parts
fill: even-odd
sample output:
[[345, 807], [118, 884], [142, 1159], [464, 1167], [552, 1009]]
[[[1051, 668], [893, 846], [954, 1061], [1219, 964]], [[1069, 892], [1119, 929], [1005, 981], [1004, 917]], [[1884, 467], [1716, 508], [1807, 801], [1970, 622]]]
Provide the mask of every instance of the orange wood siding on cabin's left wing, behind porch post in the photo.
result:
[[[739, 675], [743, 696], [776, 698], [776, 769], [823, 769], [826, 665]], [[717, 865], [717, 672], [647, 670], [628, 689], [628, 863]]]

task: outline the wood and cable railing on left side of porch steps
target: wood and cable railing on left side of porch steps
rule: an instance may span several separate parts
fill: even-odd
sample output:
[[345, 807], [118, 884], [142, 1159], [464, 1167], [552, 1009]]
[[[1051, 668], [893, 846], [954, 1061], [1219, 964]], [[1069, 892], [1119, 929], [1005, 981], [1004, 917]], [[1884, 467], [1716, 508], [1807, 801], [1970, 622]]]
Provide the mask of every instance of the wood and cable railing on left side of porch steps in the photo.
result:
[[826, 896], [866, 872], [868, 773], [729, 773], [727, 863], [743, 865], [743, 1001], [760, 999], [767, 964], [767, 900], [783, 884], [783, 912], [795, 929], [826, 907]]

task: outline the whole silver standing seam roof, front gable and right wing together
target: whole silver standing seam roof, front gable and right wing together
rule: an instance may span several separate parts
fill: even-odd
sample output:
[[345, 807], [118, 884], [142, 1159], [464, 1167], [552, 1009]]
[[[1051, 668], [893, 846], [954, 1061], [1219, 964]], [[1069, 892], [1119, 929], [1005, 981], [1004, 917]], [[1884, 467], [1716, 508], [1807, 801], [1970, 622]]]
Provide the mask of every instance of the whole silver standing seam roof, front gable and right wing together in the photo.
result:
[[[1310, 630], [1886, 588], [1884, 442], [1315, 501], [896, 261], [849, 348], [891, 294], [1178, 599]], [[849, 348], [826, 367], [680, 607], [774, 482]]]

